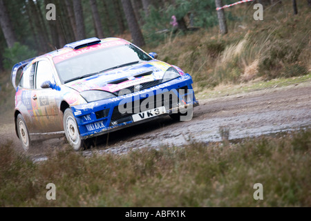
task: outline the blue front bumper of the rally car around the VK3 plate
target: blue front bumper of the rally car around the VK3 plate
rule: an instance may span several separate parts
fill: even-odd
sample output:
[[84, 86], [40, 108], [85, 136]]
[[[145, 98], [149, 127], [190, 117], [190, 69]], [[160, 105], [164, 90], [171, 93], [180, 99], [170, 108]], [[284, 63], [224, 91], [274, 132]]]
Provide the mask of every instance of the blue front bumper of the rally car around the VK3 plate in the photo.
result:
[[[103, 135], [121, 128], [148, 122], [164, 115], [187, 111], [198, 106], [190, 75], [183, 75], [158, 86], [120, 97], [72, 106], [82, 139]], [[165, 112], [153, 115], [151, 110], [165, 106]], [[124, 113], [125, 111], [125, 113]], [[147, 113], [149, 112], [150, 113]], [[192, 111], [192, 110], [191, 110]], [[148, 117], [137, 121], [133, 115]], [[150, 116], [149, 116], [150, 115]]]

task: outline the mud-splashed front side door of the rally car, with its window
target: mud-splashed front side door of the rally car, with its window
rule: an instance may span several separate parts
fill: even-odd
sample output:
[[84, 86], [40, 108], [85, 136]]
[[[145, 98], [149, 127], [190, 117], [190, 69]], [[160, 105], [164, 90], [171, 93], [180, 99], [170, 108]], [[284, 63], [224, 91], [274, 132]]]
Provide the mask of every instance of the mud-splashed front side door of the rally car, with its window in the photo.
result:
[[48, 59], [36, 62], [34, 90], [32, 93], [32, 111], [37, 133], [62, 131], [62, 117], [59, 111], [60, 91], [52, 88], [41, 88], [50, 81], [55, 84], [55, 70]]

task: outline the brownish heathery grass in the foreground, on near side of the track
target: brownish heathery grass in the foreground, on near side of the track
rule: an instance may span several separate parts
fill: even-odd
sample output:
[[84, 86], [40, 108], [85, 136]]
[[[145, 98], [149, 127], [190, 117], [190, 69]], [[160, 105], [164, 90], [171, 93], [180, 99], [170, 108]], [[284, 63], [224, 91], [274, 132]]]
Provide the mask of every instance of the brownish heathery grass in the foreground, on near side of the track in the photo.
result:
[[[37, 164], [10, 145], [0, 147], [0, 206], [311, 206], [310, 129], [126, 155], [68, 148]], [[50, 182], [56, 200], [46, 200]]]

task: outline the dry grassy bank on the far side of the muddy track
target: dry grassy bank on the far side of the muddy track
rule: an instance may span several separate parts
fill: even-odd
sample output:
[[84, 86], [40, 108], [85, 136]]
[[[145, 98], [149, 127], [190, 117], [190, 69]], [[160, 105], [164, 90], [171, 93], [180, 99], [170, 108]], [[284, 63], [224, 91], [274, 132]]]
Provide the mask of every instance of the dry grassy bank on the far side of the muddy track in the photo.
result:
[[155, 51], [159, 59], [180, 66], [194, 78], [196, 91], [222, 84], [240, 84], [261, 77], [273, 79], [305, 75], [311, 70], [311, 19], [306, 3], [299, 1], [299, 15], [292, 4], [270, 8], [263, 21], [254, 21], [252, 8], [238, 6], [230, 12], [239, 21], [228, 21], [229, 33], [218, 27], [189, 35], [169, 35]]

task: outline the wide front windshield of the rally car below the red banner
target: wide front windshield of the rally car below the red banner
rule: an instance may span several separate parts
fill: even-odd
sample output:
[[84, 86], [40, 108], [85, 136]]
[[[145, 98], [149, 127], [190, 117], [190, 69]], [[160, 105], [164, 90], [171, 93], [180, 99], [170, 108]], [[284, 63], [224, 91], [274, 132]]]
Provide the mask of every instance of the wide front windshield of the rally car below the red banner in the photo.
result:
[[151, 59], [139, 48], [126, 44], [77, 55], [55, 63], [55, 67], [62, 83], [67, 83], [106, 70], [136, 64], [140, 61], [150, 61]]

